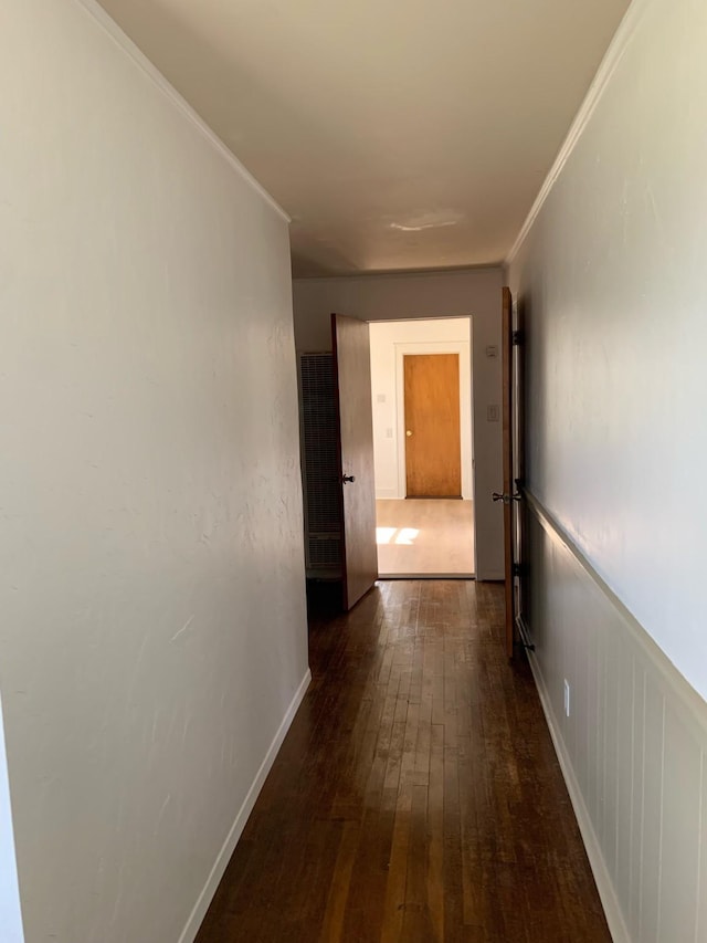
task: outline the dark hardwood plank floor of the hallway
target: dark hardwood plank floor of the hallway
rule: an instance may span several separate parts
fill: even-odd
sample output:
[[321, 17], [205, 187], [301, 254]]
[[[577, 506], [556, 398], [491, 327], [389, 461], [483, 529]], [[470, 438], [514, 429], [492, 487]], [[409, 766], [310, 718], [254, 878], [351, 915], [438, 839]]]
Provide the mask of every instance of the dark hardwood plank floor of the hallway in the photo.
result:
[[503, 586], [313, 617], [312, 687], [198, 943], [610, 943]]

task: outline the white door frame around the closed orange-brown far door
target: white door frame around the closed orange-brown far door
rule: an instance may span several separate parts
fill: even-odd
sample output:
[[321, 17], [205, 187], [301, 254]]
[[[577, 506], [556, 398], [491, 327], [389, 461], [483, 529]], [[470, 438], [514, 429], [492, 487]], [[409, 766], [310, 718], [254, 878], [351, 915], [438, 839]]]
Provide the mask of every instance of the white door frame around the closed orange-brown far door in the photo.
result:
[[408, 491], [405, 468], [405, 378], [403, 357], [414, 354], [457, 354], [460, 358], [460, 438], [462, 448], [462, 497], [474, 497], [474, 430], [473, 377], [472, 377], [472, 325], [469, 339], [464, 340], [412, 340], [395, 343], [395, 425], [398, 428], [398, 495], [405, 497]]

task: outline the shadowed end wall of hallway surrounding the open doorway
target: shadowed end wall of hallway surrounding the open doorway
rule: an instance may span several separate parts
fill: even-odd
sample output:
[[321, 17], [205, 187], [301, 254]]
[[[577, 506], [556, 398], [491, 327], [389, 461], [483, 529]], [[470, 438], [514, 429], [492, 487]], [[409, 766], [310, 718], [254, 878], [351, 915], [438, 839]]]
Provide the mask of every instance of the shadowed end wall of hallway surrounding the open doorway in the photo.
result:
[[488, 421], [488, 407], [500, 404], [500, 289], [498, 269], [413, 275], [299, 279], [294, 282], [295, 343], [298, 350], [331, 348], [329, 315], [362, 321], [471, 316], [474, 338], [474, 459], [476, 572], [479, 579], [503, 579], [503, 510], [493, 491], [503, 485], [500, 422]]

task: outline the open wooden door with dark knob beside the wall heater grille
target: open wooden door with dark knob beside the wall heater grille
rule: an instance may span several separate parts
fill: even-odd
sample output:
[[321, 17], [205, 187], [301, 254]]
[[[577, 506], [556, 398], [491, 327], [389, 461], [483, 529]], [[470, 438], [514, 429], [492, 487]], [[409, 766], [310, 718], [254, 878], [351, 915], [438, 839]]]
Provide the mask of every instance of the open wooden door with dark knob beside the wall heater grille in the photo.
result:
[[378, 578], [373, 419], [368, 324], [331, 315], [341, 482], [344, 608]]

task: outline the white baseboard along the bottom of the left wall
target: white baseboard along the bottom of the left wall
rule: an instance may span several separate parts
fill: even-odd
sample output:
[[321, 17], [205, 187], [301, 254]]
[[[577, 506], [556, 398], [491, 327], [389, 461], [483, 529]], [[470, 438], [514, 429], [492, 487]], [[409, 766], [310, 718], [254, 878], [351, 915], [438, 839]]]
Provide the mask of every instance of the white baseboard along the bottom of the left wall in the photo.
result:
[[214, 861], [213, 868], [211, 869], [211, 873], [207, 878], [207, 883], [203, 887], [203, 890], [199, 894], [197, 903], [194, 904], [193, 910], [189, 915], [189, 920], [187, 921], [187, 925], [184, 926], [181, 936], [179, 937], [179, 943], [193, 943], [197, 933], [199, 932], [199, 928], [207, 915], [207, 911], [209, 910], [209, 904], [211, 903], [213, 895], [217, 892], [217, 888], [219, 887], [219, 882], [223, 877], [223, 872], [226, 869], [229, 861], [231, 860], [231, 856], [238, 845], [239, 838], [243, 834], [243, 829], [245, 828], [245, 822], [247, 821], [247, 817], [253, 810], [253, 806], [257, 799], [257, 796], [263, 788], [263, 784], [267, 777], [267, 774], [271, 771], [273, 763], [275, 762], [275, 757], [279, 751], [279, 747], [283, 745], [283, 741], [289, 730], [289, 725], [292, 724], [295, 714], [297, 713], [297, 709], [302, 704], [302, 701], [307, 693], [307, 688], [309, 687], [309, 682], [312, 681], [312, 672], [307, 669], [305, 677], [302, 679], [302, 683], [297, 691], [295, 692], [295, 696], [292, 699], [287, 711], [285, 712], [285, 716], [277, 729], [277, 733], [273, 737], [273, 742], [270, 745], [267, 753], [265, 754], [265, 758], [261, 763], [261, 767], [255, 774], [255, 778], [251, 785], [251, 788], [247, 790], [247, 795], [243, 800], [243, 805], [239, 809], [239, 814], [235, 817], [235, 821], [233, 822], [229, 835], [223, 842], [221, 851], [219, 852], [217, 860]]

